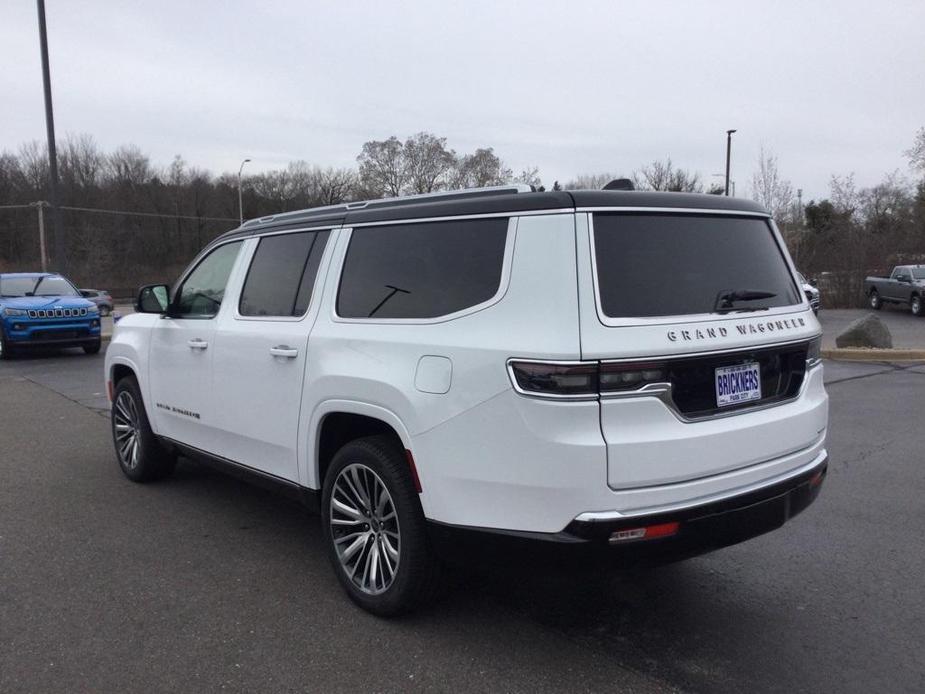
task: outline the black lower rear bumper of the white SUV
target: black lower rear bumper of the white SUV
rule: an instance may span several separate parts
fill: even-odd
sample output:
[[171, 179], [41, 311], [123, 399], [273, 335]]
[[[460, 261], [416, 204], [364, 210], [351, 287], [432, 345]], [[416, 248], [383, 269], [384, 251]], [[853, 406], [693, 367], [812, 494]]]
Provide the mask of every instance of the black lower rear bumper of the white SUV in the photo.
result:
[[[479, 564], [660, 564], [704, 554], [781, 527], [807, 508], [822, 488], [828, 458], [798, 476], [762, 489], [683, 510], [633, 518], [574, 520], [558, 533], [532, 533], [428, 522], [431, 541], [445, 560]], [[678, 523], [676, 534], [611, 543], [613, 533]]]

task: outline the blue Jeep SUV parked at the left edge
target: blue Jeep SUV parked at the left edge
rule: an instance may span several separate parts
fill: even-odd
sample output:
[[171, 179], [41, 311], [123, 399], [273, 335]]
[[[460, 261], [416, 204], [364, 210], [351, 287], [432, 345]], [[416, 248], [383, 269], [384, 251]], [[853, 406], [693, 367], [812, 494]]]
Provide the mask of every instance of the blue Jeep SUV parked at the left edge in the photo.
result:
[[100, 312], [61, 275], [0, 274], [0, 359], [28, 347], [100, 351]]

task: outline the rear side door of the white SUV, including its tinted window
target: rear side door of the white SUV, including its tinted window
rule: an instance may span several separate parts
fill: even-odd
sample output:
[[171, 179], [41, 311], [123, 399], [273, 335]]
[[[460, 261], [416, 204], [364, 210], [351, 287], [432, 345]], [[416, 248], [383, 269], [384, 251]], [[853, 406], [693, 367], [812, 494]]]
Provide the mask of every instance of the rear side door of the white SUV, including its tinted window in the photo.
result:
[[250, 242], [240, 295], [215, 335], [215, 452], [290, 481], [298, 480], [302, 383], [330, 234], [302, 230]]

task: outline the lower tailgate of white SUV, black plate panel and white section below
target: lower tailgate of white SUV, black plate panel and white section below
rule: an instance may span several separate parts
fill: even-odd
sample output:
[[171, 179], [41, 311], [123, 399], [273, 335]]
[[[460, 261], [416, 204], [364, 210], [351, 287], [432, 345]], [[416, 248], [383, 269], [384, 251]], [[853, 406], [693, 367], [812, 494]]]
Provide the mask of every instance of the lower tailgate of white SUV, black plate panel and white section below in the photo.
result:
[[[805, 343], [664, 364], [665, 386], [601, 399], [607, 482], [613, 489], [671, 484], [763, 463], [813, 445], [825, 430], [824, 395], [797, 397], [810, 375]], [[760, 374], [760, 399], [719, 405], [717, 379], [741, 366]]]

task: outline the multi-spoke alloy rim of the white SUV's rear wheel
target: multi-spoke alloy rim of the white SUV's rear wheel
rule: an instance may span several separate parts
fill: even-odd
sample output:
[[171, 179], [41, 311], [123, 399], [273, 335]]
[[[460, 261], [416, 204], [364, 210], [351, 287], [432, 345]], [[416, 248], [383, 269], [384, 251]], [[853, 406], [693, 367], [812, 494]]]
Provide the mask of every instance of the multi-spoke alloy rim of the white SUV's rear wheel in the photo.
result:
[[328, 513], [347, 578], [368, 595], [384, 593], [398, 573], [401, 529], [382, 478], [365, 465], [347, 465], [334, 481]]

